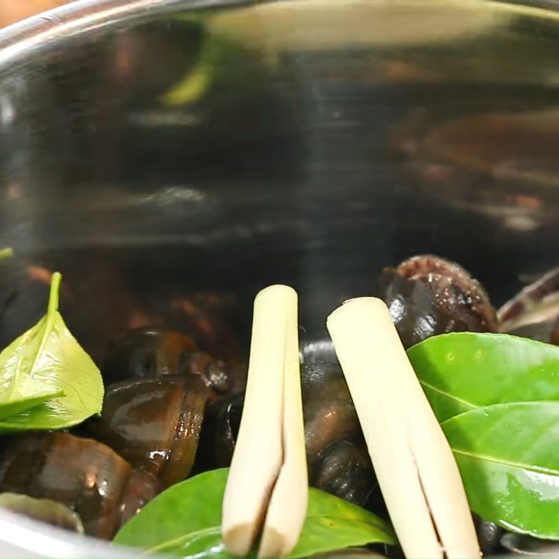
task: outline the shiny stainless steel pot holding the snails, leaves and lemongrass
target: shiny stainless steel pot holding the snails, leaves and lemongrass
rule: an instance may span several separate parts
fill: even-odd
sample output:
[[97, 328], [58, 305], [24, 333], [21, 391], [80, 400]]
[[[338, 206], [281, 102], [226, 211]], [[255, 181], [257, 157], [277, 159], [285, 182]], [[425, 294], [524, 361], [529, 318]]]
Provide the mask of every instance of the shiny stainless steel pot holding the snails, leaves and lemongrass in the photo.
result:
[[[0, 245], [21, 266], [0, 284], [32, 264], [84, 285], [68, 322], [96, 358], [96, 270], [147, 299], [228, 291], [247, 316], [287, 282], [312, 330], [434, 252], [500, 303], [559, 260], [556, 6], [83, 0], [4, 29]], [[119, 553], [0, 513], [1, 556]]]

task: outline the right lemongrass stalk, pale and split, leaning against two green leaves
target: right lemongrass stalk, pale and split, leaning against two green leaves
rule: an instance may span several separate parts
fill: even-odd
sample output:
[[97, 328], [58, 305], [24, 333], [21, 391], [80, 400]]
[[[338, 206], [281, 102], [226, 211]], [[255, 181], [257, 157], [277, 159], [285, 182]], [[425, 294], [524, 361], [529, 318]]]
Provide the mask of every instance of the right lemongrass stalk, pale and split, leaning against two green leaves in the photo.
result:
[[406, 557], [479, 557], [458, 466], [386, 305], [349, 300], [327, 326]]

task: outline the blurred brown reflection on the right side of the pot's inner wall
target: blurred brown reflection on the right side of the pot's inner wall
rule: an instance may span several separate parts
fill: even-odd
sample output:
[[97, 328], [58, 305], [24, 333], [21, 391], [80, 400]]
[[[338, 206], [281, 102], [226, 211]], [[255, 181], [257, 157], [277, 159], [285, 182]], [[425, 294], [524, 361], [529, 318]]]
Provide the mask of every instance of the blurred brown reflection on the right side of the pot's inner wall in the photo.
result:
[[[556, 222], [559, 110], [468, 112], [440, 119], [412, 112], [393, 146], [426, 196], [493, 217], [517, 233]], [[433, 116], [435, 115], [435, 118]]]

